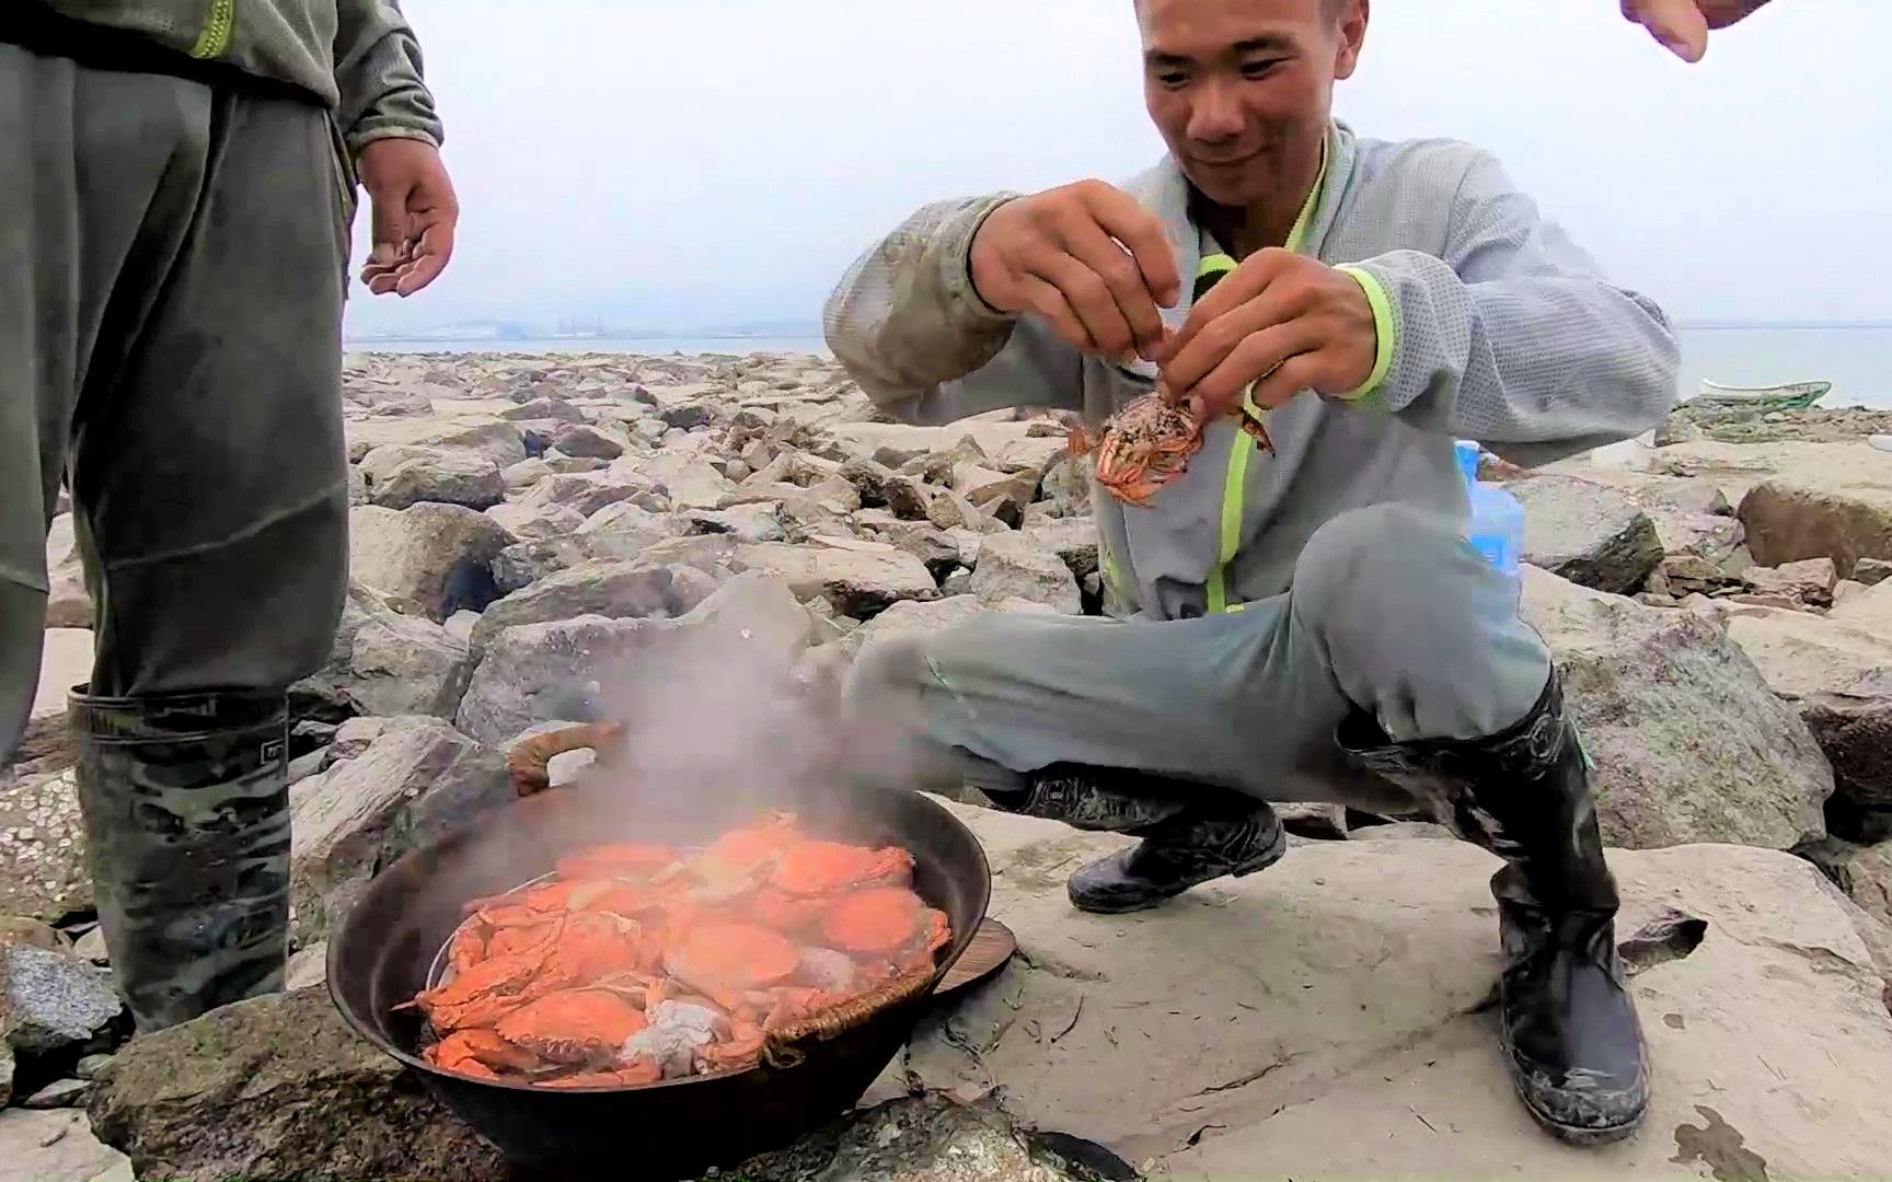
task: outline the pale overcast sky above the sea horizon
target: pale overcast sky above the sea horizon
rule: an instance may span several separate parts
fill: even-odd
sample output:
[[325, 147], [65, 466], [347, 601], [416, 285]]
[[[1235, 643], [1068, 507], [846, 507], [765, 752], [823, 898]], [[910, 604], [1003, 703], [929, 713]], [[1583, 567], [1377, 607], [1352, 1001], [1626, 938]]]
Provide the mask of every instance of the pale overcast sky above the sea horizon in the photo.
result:
[[[1126, 180], [1164, 151], [1130, 0], [403, 9], [462, 221], [428, 291], [352, 291], [354, 333], [814, 325], [925, 200]], [[1775, 0], [1695, 66], [1616, 0], [1381, 0], [1336, 115], [1491, 149], [1678, 320], [1892, 322], [1888, 43], [1892, 0]], [[365, 212], [356, 238], [359, 259]]]

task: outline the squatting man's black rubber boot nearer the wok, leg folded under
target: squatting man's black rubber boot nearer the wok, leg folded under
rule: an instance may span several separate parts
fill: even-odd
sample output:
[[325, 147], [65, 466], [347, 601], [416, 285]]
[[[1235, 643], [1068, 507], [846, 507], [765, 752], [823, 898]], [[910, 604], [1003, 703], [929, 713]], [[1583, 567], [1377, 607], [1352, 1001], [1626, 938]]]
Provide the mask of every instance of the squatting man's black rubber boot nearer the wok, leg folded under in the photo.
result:
[[1071, 876], [1065, 891], [1080, 912], [1141, 912], [1209, 879], [1266, 870], [1288, 847], [1268, 802], [1213, 785], [1075, 764], [1035, 772], [1029, 785], [1014, 811], [1143, 838]]

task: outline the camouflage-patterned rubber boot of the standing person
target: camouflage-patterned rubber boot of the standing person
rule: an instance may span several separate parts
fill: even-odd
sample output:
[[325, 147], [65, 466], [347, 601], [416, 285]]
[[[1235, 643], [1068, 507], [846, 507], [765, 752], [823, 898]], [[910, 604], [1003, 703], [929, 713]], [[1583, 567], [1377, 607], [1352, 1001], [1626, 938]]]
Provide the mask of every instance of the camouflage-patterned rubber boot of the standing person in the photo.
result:
[[284, 987], [284, 694], [74, 692], [79, 806], [112, 974], [140, 1033]]

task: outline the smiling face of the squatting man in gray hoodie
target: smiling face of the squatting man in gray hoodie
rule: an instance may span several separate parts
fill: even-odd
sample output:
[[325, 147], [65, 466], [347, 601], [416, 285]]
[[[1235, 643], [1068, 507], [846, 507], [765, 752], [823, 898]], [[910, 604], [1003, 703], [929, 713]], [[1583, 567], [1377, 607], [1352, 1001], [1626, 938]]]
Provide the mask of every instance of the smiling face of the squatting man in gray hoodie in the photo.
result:
[[1305, 182], [1334, 81], [1353, 74], [1366, 0], [1139, 0], [1143, 91], [1209, 200], [1253, 206]]

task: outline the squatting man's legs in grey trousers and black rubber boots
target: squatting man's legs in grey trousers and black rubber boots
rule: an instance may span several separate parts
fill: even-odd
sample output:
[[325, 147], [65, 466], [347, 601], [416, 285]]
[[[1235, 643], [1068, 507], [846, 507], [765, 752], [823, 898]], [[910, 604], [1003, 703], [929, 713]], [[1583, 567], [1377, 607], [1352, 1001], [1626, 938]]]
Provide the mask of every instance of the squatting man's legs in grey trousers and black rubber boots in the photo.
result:
[[1309, 539], [1292, 592], [1234, 615], [993, 613], [887, 637], [861, 652], [848, 705], [1001, 808], [1141, 836], [1071, 878], [1084, 910], [1271, 864], [1279, 838], [1241, 796], [1427, 804], [1506, 862], [1504, 1048], [1533, 1116], [1572, 1140], [1640, 1121], [1589, 768], [1550, 652], [1451, 522], [1347, 513]]

